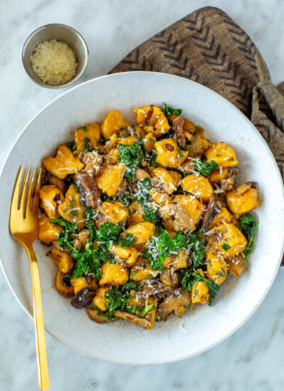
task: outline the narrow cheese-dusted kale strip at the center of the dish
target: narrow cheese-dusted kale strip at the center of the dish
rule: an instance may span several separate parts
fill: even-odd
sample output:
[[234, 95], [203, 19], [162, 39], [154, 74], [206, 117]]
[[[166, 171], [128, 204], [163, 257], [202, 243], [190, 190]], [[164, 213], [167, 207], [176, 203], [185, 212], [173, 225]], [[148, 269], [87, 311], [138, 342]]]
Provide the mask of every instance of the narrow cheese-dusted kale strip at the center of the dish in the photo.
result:
[[140, 203], [142, 209], [145, 212], [145, 215], [142, 215], [143, 219], [155, 223], [156, 220], [160, 220], [160, 213], [157, 210], [153, 210], [149, 206], [149, 198], [151, 190], [151, 181], [150, 178], [144, 178], [143, 181], [138, 181], [137, 183], [138, 191], [133, 195], [133, 200]]

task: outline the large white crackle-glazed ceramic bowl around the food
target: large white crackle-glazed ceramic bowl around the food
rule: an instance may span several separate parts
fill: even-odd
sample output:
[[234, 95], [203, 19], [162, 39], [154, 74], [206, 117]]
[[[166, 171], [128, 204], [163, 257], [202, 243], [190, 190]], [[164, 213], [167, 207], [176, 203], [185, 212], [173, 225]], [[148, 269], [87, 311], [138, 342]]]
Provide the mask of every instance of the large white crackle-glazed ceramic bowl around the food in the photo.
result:
[[45, 328], [58, 341], [94, 358], [135, 365], [170, 363], [200, 353], [236, 331], [256, 310], [278, 271], [283, 252], [283, 184], [266, 142], [238, 109], [195, 82], [161, 73], [120, 73], [89, 80], [65, 92], [41, 110], [18, 137], [0, 180], [0, 255], [16, 298], [32, 314], [31, 277], [23, 248], [9, 234], [9, 208], [18, 167], [40, 166], [43, 156], [72, 139], [81, 124], [102, 122], [111, 109], [134, 122], [134, 107], [181, 107], [185, 117], [204, 127], [212, 141], [236, 151], [241, 181], [256, 181], [261, 206], [256, 247], [239, 279], [228, 277], [214, 306], [197, 306], [181, 320], [170, 316], [146, 331], [131, 323], [107, 325], [89, 320], [54, 287], [56, 268], [46, 248], [35, 242], [43, 291]]

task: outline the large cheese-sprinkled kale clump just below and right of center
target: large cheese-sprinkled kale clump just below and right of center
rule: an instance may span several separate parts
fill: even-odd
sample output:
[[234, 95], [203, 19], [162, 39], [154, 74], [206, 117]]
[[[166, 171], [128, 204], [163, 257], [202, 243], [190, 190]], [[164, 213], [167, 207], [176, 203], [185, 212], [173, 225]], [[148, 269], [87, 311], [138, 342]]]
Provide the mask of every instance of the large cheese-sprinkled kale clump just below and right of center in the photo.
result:
[[163, 260], [170, 255], [170, 252], [178, 252], [187, 247], [185, 234], [178, 232], [170, 237], [168, 231], [160, 225], [155, 230], [155, 235], [151, 238], [148, 250], [143, 252], [143, 257], [148, 258], [152, 270], [163, 272]]

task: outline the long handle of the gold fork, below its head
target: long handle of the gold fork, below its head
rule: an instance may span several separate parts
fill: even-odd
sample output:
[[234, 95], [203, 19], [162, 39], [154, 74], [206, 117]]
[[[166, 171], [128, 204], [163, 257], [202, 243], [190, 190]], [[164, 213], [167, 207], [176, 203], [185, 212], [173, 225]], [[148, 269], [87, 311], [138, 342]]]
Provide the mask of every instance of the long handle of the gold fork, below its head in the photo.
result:
[[49, 390], [48, 358], [45, 346], [45, 329], [43, 323], [43, 303], [40, 291], [40, 273], [33, 246], [26, 247], [31, 267], [31, 286], [33, 291], [33, 318], [35, 321], [35, 346], [38, 361], [38, 382], [40, 390]]

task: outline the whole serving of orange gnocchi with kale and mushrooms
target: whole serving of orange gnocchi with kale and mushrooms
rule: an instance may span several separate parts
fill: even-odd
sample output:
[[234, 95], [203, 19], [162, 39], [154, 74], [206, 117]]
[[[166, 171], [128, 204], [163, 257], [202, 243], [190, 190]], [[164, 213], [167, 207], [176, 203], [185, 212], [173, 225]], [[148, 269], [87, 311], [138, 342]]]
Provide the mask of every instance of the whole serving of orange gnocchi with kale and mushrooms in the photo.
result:
[[[165, 105], [111, 110], [43, 159], [38, 238], [55, 287], [92, 321], [150, 329], [246, 269], [259, 205], [232, 146]], [[48, 262], [48, 261], [47, 261]]]

